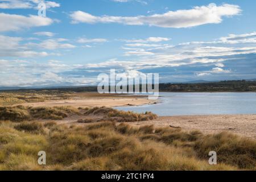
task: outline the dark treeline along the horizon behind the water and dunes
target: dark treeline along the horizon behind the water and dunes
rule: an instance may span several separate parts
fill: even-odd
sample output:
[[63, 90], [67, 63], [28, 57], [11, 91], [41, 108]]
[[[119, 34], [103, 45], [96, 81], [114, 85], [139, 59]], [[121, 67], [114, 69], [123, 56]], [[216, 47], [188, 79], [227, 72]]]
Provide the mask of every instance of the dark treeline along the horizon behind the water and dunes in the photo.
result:
[[[141, 87], [141, 86], [140, 86]], [[154, 86], [153, 86], [154, 88]], [[24, 91], [31, 89], [20, 89], [16, 91]], [[73, 92], [97, 92], [97, 86], [85, 87], [65, 87], [65, 88], [44, 88], [32, 89], [36, 91], [42, 90], [58, 90], [58, 91], [73, 91]], [[159, 84], [159, 92], [256, 92], [256, 81], [235, 80], [235, 81], [220, 81], [207, 83], [193, 84]]]

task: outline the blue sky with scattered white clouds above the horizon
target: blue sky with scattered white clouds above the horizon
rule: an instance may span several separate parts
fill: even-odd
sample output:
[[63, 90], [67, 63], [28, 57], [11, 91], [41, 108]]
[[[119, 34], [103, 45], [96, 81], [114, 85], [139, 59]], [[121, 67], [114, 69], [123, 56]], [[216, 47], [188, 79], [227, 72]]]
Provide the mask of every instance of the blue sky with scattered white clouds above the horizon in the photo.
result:
[[0, 86], [256, 78], [256, 1], [0, 0]]

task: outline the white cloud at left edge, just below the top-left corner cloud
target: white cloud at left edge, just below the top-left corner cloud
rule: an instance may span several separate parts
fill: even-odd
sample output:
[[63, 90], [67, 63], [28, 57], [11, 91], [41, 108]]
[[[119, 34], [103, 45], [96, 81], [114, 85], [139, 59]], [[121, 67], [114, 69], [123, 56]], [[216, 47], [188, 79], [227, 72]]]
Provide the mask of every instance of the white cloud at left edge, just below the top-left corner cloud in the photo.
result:
[[0, 13], [0, 32], [19, 31], [23, 28], [49, 26], [53, 23], [51, 18], [41, 16], [23, 16]]

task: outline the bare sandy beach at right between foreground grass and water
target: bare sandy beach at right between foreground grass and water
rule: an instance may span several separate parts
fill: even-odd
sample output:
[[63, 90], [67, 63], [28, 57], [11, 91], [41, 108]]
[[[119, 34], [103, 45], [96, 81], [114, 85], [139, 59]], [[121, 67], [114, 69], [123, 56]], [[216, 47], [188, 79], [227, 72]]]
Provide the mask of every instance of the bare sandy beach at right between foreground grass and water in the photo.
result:
[[170, 116], [130, 124], [180, 127], [185, 131], [200, 130], [205, 134], [229, 131], [245, 138], [256, 139], [256, 114]]

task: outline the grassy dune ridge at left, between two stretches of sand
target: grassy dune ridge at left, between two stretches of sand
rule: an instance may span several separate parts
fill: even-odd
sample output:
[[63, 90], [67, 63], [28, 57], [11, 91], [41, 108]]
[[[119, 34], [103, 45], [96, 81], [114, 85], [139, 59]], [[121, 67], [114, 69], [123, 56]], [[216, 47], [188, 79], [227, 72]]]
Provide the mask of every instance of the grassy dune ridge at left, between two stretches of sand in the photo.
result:
[[132, 111], [119, 111], [109, 107], [79, 107], [76, 109], [71, 106], [55, 106], [55, 107], [29, 107], [29, 106], [9, 106], [0, 107], [0, 120], [22, 122], [35, 119], [64, 119], [70, 115], [98, 115], [96, 119], [80, 119], [79, 122], [98, 122], [98, 121], [117, 121], [117, 122], [135, 122], [148, 121], [155, 119], [156, 114], [151, 112], [134, 113]]

